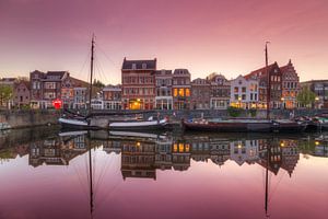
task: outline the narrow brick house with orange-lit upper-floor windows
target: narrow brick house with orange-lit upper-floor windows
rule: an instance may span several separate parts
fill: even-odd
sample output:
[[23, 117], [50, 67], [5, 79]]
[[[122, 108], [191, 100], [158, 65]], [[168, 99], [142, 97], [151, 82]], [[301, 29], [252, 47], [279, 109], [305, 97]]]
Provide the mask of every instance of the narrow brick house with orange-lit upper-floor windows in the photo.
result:
[[190, 110], [191, 84], [187, 69], [175, 69], [172, 78], [174, 110]]

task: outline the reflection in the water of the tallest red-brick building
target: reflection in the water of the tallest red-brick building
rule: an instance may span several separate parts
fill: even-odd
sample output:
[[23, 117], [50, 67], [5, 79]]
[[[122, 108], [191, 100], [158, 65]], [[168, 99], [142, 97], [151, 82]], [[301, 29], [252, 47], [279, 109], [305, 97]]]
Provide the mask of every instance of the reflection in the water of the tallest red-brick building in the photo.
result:
[[156, 178], [155, 145], [147, 141], [121, 141], [121, 174], [127, 177]]

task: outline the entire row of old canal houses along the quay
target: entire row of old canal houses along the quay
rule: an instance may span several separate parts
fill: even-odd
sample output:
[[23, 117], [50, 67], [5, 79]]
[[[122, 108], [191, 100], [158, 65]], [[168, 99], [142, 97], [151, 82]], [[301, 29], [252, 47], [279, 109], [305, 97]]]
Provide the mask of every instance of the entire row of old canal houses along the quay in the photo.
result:
[[[68, 71], [35, 70], [28, 82], [7, 78], [0, 84], [13, 84], [11, 105], [15, 106], [48, 108], [54, 100], [61, 100], [65, 108], [85, 108], [89, 103], [89, 83]], [[300, 83], [291, 60], [282, 67], [274, 62], [231, 80], [221, 73], [191, 80], [188, 69], [157, 70], [156, 59], [125, 58], [121, 84], [93, 89], [91, 105], [98, 110], [266, 108], [269, 97], [270, 108], [295, 108], [303, 87], [316, 93], [317, 107], [328, 107], [328, 80]]]

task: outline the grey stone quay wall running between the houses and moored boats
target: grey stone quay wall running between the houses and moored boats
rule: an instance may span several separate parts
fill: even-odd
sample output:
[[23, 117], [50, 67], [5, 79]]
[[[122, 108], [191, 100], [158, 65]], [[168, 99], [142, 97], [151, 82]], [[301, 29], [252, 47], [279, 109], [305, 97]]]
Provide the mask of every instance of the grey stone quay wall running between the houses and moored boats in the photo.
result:
[[[104, 111], [94, 111], [101, 113]], [[117, 113], [136, 113], [136, 111], [119, 111]], [[115, 112], [112, 112], [115, 113]], [[150, 116], [167, 116], [169, 122], [178, 124], [183, 118], [230, 118], [226, 110], [188, 110], [188, 111], [139, 111], [145, 118]], [[328, 113], [328, 110], [272, 110], [270, 118], [290, 118], [291, 116], [314, 116], [316, 114]], [[25, 128], [57, 124], [61, 111], [43, 110], [43, 111], [0, 111], [0, 130], [12, 128]], [[256, 118], [266, 118], [266, 111], [258, 110]], [[244, 111], [239, 117], [251, 118], [249, 111]]]

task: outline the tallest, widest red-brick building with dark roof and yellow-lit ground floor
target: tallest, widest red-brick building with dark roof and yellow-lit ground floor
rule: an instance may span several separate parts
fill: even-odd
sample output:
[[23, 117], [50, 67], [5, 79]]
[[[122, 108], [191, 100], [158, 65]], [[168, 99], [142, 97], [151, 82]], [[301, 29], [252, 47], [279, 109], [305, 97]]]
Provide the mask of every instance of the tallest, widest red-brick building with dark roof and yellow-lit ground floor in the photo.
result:
[[127, 60], [121, 68], [124, 110], [153, 110], [156, 59]]

